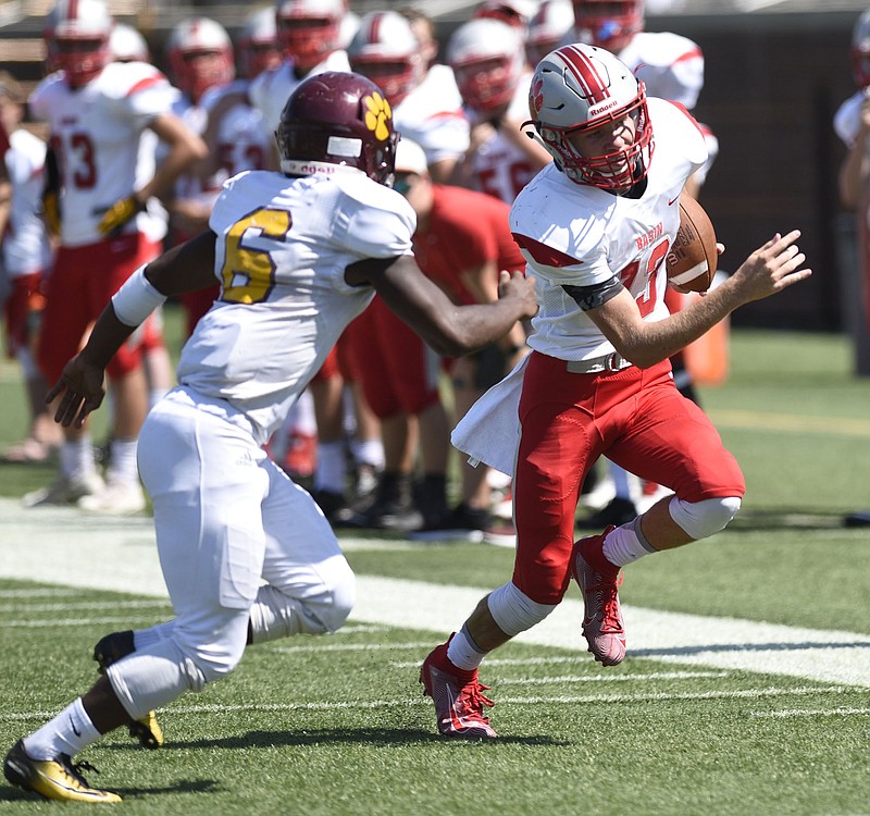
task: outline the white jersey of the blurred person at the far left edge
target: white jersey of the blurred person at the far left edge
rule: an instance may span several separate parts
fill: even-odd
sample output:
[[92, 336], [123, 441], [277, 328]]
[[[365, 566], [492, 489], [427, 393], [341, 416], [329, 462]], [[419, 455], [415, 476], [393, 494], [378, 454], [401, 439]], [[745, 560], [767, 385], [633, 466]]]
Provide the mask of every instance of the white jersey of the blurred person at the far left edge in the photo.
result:
[[24, 129], [9, 136], [7, 174], [12, 185], [9, 222], [3, 234], [3, 269], [9, 277], [48, 270], [51, 248], [41, 209], [46, 143]]

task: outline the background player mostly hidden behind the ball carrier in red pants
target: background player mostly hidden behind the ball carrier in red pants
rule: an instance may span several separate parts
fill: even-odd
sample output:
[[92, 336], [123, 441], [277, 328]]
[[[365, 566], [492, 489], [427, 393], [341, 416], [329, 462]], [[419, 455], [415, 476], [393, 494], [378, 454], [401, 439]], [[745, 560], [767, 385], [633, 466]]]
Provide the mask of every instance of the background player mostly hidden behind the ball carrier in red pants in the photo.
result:
[[[605, 48], [626, 64], [646, 86], [647, 96], [679, 102], [693, 110], [704, 87], [704, 53], [700, 47], [679, 34], [644, 30], [644, 0], [573, 0], [575, 29], [580, 42]], [[700, 186], [719, 152], [719, 143], [706, 125], [700, 125], [707, 145], [708, 160], [686, 182], [685, 190], [698, 197]], [[679, 311], [689, 296], [669, 288], [669, 309]], [[693, 401], [698, 398], [692, 374], [681, 351], [671, 360], [678, 388]], [[589, 527], [622, 524], [645, 510], [662, 495], [655, 484], [644, 483], [612, 462], [608, 466], [612, 487], [600, 483], [596, 494], [612, 498], [585, 520]], [[588, 503], [591, 497], [586, 497]], [[600, 502], [600, 498], [597, 499]]]

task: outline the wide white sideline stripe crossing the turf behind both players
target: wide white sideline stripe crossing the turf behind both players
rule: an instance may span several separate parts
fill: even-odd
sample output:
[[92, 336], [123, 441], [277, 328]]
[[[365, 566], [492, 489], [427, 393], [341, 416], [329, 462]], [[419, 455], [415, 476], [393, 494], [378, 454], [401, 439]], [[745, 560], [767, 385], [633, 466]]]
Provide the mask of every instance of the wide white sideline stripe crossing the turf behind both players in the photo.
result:
[[[166, 597], [149, 518], [84, 516], [63, 507], [24, 509], [8, 498], [0, 498], [0, 578]], [[351, 623], [435, 632], [435, 645], [462, 625], [489, 589], [358, 576]], [[592, 660], [580, 633], [583, 603], [576, 588], [569, 595], [517, 640], [567, 648]], [[633, 658], [870, 688], [870, 634], [633, 606], [624, 606], [623, 615]]]

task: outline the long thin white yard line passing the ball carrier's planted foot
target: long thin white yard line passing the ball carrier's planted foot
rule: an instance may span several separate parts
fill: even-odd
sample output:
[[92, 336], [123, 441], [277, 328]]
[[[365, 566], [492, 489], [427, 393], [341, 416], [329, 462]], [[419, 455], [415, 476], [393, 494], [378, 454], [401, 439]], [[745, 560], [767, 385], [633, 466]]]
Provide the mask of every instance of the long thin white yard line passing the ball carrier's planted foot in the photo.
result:
[[[706, 691], [706, 692], [654, 692], [641, 694], [557, 694], [555, 696], [534, 696], [534, 697], [510, 697], [499, 696], [501, 704], [519, 705], [552, 705], [556, 704], [618, 704], [618, 703], [661, 703], [669, 701], [692, 701], [692, 700], [734, 700], [751, 698], [763, 700], [766, 697], [790, 697], [806, 696], [808, 694], [844, 694], [854, 693], [854, 689], [844, 689], [842, 685], [819, 687], [796, 687], [794, 689], [781, 689], [768, 687], [767, 689], [744, 689], [741, 691]], [[165, 708], [173, 716], [185, 714], [233, 714], [236, 712], [328, 712], [348, 709], [370, 709], [370, 708], [397, 708], [397, 707], [428, 707], [432, 702], [425, 697], [402, 697], [399, 700], [355, 700], [351, 702], [310, 702], [310, 703], [251, 703], [248, 705], [170, 705]], [[53, 717], [57, 712], [12, 712], [4, 714], [4, 719], [9, 720], [30, 720]], [[681, 714], [682, 716], [682, 714]]]

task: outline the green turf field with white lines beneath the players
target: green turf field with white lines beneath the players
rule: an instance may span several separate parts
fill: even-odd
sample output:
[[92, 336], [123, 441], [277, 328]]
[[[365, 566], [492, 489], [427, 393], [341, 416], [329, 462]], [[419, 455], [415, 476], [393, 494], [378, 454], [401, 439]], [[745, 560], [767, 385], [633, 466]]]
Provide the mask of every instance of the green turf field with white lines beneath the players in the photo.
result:
[[[701, 397], [744, 511], [626, 570], [621, 666], [584, 651], [572, 589], [482, 669], [499, 739], [444, 741], [419, 664], [512, 553], [343, 534], [341, 632], [251, 648], [161, 713], [164, 749], [115, 732], [85, 752], [90, 781], [128, 814], [870, 814], [870, 531], [842, 524], [870, 508], [870, 382], [837, 336], [735, 332], [732, 354]], [[2, 447], [24, 426], [8, 363], [0, 400]], [[0, 465], [2, 751], [89, 685], [102, 634], [170, 615], [147, 518], [18, 509], [51, 475]], [[0, 781], [0, 814], [82, 806]]]

